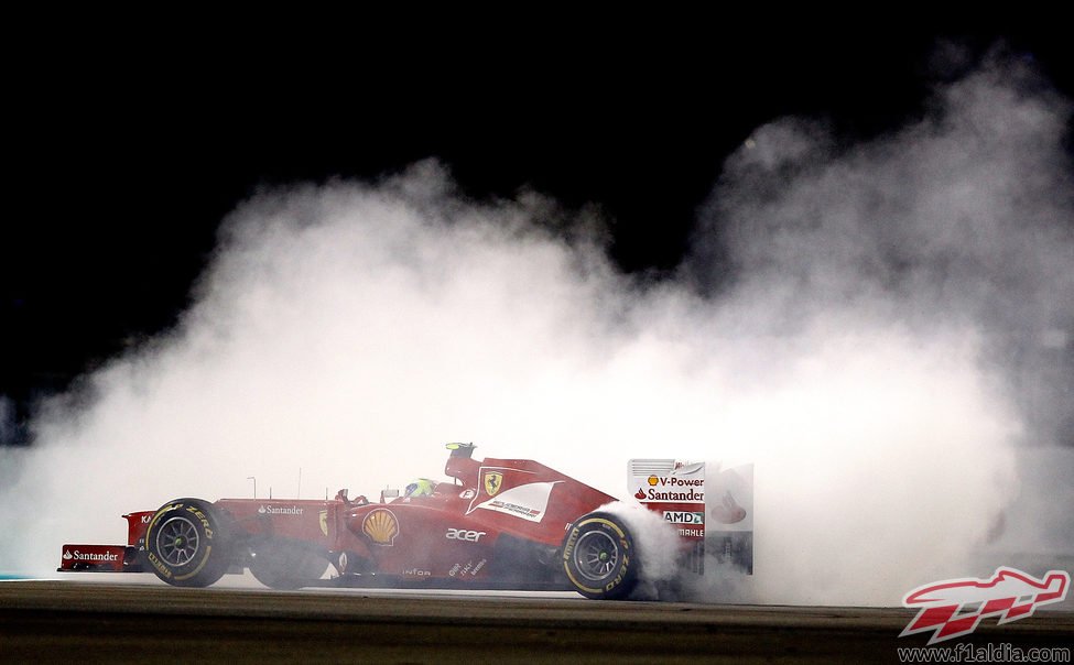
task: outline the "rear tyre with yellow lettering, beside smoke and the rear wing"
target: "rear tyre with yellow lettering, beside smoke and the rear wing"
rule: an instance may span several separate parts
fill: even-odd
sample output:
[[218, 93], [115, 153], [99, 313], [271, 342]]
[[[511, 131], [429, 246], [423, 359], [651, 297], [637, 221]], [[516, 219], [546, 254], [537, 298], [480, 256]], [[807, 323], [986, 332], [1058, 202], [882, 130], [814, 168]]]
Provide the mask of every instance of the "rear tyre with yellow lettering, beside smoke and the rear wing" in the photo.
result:
[[638, 585], [633, 536], [608, 513], [589, 513], [571, 526], [561, 562], [571, 585], [586, 598], [619, 600]]

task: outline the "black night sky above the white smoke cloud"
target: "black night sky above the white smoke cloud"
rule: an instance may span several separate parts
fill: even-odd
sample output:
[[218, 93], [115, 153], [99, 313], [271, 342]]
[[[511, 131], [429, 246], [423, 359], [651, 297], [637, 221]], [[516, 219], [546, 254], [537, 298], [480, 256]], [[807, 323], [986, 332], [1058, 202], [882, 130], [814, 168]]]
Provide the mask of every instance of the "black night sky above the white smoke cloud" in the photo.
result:
[[943, 40], [979, 54], [1006, 37], [1074, 97], [1072, 48], [1039, 28], [347, 25], [247, 26], [241, 40], [50, 34], [11, 59], [0, 395], [20, 418], [173, 323], [221, 217], [258, 186], [371, 178], [436, 156], [478, 198], [530, 186], [595, 203], [623, 270], [666, 270], [750, 131], [792, 113], [848, 139], [893, 129], [957, 74], [936, 66]]

